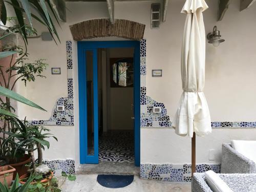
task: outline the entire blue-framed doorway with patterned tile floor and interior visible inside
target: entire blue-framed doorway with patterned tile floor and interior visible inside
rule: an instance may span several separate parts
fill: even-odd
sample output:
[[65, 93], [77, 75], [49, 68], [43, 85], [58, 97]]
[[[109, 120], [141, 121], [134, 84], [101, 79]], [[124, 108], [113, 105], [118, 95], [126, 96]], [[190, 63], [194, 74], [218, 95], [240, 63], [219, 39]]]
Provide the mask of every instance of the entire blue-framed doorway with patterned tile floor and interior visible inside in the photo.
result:
[[79, 41], [80, 163], [140, 165], [139, 41]]

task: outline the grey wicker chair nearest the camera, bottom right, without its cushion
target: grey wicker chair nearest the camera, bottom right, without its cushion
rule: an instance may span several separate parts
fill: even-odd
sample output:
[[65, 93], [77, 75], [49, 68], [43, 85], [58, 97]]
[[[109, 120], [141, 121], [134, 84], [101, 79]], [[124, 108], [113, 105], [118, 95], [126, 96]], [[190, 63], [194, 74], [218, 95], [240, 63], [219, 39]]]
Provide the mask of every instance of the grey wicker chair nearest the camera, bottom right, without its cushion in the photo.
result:
[[[212, 192], [204, 173], [195, 173], [192, 178], [192, 192]], [[255, 192], [256, 174], [218, 174], [233, 192]]]

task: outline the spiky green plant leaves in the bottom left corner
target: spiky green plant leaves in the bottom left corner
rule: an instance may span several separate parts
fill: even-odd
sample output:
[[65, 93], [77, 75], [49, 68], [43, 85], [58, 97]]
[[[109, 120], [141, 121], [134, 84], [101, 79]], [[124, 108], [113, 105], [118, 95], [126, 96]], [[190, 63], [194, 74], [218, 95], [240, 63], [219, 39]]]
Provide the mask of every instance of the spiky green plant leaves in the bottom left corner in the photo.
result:
[[16, 178], [14, 180], [14, 182], [12, 183], [12, 185], [9, 186], [7, 185], [7, 183], [5, 182], [5, 184], [0, 183], [0, 191], [1, 192], [27, 192], [30, 182], [33, 181], [33, 177], [29, 177], [28, 178], [28, 182], [25, 183], [24, 185], [19, 185], [19, 178], [18, 178], [18, 174], [16, 175]]

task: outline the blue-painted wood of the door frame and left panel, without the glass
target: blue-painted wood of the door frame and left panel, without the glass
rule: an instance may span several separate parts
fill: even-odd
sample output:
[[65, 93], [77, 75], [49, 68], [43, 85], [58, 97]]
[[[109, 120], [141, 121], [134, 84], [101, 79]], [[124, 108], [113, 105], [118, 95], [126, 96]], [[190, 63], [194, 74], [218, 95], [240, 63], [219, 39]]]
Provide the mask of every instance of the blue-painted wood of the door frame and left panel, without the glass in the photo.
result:
[[[98, 88], [97, 49], [134, 48], [134, 146], [135, 165], [140, 166], [140, 42], [139, 41], [78, 41], [78, 85], [79, 85], [79, 135], [80, 164], [98, 163]], [[87, 94], [86, 94], [86, 51], [93, 51], [94, 81], [94, 156], [87, 155]], [[96, 84], [96, 86], [95, 86]], [[96, 93], [96, 94], [95, 94]], [[96, 108], [97, 106], [97, 108]]]

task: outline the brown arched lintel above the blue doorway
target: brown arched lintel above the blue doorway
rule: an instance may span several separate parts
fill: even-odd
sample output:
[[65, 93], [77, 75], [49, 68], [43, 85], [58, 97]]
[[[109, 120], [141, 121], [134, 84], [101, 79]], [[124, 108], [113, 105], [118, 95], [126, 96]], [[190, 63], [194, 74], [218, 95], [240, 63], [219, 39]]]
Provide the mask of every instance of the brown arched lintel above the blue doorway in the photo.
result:
[[143, 38], [145, 25], [131, 20], [115, 19], [111, 24], [109, 19], [92, 19], [70, 26], [74, 40], [90, 39], [95, 37], [122, 37], [133, 40]]

